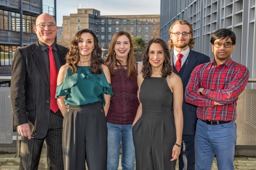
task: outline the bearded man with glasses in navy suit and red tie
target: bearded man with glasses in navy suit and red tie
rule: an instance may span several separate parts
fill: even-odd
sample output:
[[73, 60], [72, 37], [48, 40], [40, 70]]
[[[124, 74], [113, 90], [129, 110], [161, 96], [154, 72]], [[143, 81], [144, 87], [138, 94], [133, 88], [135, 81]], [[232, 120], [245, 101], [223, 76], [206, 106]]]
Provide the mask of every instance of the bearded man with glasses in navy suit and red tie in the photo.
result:
[[[186, 20], [176, 20], [169, 30], [169, 48], [171, 52], [171, 63], [176, 74], [178, 74], [185, 87], [188, 84], [190, 74], [199, 64], [210, 61], [209, 56], [191, 50], [195, 40], [193, 39], [193, 28]], [[195, 126], [196, 106], [183, 101], [183, 139], [179, 156], [179, 169], [195, 169]]]

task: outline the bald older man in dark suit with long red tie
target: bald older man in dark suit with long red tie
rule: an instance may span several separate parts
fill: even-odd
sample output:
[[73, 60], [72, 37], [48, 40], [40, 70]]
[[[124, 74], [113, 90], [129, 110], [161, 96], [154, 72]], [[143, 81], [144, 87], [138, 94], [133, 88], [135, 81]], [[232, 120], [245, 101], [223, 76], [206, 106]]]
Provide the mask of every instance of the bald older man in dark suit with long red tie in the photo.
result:
[[11, 66], [11, 103], [21, 140], [19, 169], [38, 169], [44, 141], [48, 169], [63, 169], [62, 120], [56, 107], [56, 79], [67, 48], [55, 43], [55, 19], [43, 13], [33, 28], [38, 41], [16, 50]]

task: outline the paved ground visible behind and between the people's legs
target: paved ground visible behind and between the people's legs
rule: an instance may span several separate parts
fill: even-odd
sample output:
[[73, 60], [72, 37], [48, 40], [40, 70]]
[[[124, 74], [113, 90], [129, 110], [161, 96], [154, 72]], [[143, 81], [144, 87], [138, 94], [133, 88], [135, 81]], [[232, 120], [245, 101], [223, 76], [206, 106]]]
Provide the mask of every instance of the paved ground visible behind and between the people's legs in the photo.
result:
[[[241, 157], [235, 156], [234, 159], [235, 169], [256, 169], [256, 157]], [[19, 158], [16, 157], [16, 153], [0, 153], [0, 169], [1, 170], [16, 170], [19, 168]], [[38, 169], [46, 170], [46, 153], [42, 153], [40, 166]], [[119, 166], [119, 169], [122, 169]], [[176, 167], [178, 169], [178, 166]], [[211, 169], [218, 169], [216, 159]]]

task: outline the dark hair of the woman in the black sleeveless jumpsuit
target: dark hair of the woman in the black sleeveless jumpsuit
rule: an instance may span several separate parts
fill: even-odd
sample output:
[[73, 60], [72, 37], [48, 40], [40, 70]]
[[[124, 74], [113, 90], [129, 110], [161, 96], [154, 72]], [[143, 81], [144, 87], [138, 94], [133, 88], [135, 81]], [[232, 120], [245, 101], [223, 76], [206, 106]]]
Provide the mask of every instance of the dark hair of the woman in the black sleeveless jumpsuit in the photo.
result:
[[143, 67], [141, 70], [143, 78], [150, 78], [152, 74], [151, 64], [149, 63], [149, 48], [153, 43], [159, 43], [161, 47], [163, 47], [164, 49], [164, 63], [163, 63], [161, 76], [166, 77], [168, 75], [171, 75], [172, 68], [171, 68], [170, 53], [169, 53], [168, 47], [164, 42], [164, 40], [159, 38], [154, 38], [147, 43], [146, 48], [144, 50], [143, 63], [142, 63]]

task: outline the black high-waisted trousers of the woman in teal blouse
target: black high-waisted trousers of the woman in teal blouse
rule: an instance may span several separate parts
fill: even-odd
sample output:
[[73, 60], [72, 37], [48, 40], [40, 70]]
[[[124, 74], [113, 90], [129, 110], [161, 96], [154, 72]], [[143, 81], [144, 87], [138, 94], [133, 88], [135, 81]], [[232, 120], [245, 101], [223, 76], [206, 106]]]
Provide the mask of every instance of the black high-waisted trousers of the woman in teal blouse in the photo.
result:
[[63, 120], [66, 170], [107, 169], [107, 124], [102, 103], [68, 105]]

